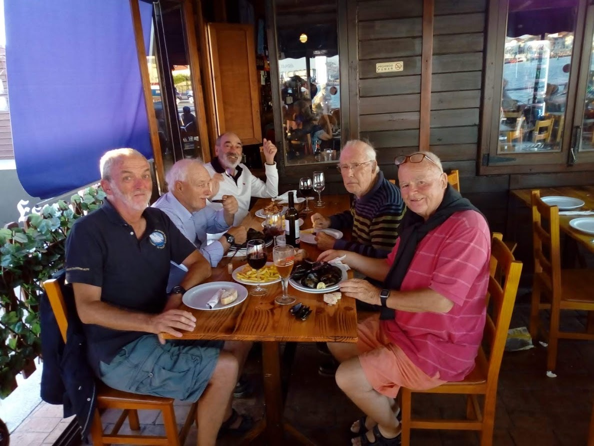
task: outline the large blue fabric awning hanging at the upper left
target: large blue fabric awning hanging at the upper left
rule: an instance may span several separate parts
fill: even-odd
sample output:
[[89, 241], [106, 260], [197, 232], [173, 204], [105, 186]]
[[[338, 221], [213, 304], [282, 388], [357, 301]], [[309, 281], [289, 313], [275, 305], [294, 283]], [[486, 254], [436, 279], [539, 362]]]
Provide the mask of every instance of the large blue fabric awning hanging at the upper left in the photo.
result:
[[[149, 49], [153, 6], [140, 2]], [[128, 0], [5, 1], [19, 180], [58, 196], [99, 180], [109, 149], [152, 149]]]

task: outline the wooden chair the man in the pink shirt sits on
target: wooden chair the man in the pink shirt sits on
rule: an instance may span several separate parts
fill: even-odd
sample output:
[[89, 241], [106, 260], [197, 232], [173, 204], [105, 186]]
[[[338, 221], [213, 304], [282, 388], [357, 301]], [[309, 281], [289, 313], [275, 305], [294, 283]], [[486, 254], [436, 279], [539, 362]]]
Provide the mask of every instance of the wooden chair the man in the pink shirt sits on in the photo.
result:
[[[501, 241], [501, 234], [493, 234], [491, 246], [491, 271], [489, 277], [487, 307], [489, 300], [492, 315], [487, 315], [483, 344], [479, 348], [475, 368], [463, 381], [447, 382], [426, 391], [400, 390], [402, 395], [402, 445], [410, 444], [410, 429], [462, 429], [481, 432], [481, 446], [490, 446], [493, 440], [495, 422], [495, 401], [497, 400], [497, 381], [511, 313], [516, 301], [522, 262], [514, 260], [510, 250]], [[497, 277], [504, 279], [503, 288]], [[412, 418], [412, 395], [415, 393], [465, 394], [466, 419], [435, 420]], [[478, 395], [484, 395], [484, 403], [479, 403]]]

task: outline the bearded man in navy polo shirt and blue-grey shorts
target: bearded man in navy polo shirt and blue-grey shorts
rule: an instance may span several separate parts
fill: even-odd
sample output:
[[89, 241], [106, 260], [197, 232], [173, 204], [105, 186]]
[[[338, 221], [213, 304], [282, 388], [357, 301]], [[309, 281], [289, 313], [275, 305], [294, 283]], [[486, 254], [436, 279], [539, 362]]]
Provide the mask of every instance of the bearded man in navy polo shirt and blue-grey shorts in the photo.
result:
[[[110, 150], [100, 162], [107, 199], [75, 222], [67, 238], [67, 281], [84, 323], [89, 362], [110, 387], [197, 401], [198, 444], [214, 445], [219, 428], [245, 430], [231, 408], [249, 343], [168, 341], [195, 318], [179, 310], [184, 288], [210, 276], [210, 265], [159, 209], [149, 208], [151, 175], [134, 149]], [[166, 297], [170, 261], [188, 268]], [[223, 422], [223, 420], [226, 420]]]

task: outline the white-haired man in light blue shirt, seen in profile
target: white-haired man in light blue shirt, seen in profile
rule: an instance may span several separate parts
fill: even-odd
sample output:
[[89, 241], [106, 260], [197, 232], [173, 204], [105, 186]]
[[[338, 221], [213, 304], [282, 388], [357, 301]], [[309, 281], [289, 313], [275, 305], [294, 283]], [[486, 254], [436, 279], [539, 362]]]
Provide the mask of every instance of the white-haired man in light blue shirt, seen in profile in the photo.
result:
[[[229, 247], [245, 243], [244, 227], [230, 227], [238, 211], [235, 197], [223, 195], [223, 208], [219, 211], [206, 205], [211, 194], [211, 178], [199, 159], [182, 159], [166, 175], [169, 192], [154, 204], [173, 221], [173, 224], [200, 250], [200, 253], [217, 266]], [[225, 232], [226, 231], [226, 232]], [[219, 240], [206, 244], [206, 234], [223, 233]]]

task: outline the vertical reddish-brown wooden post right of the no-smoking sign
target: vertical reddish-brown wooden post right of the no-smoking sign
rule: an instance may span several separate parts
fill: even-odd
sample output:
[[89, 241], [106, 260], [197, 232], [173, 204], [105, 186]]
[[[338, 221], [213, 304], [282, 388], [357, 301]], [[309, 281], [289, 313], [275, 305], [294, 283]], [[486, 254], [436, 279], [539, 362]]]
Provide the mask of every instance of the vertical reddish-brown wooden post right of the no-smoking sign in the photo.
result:
[[434, 0], [423, 0], [423, 49], [421, 55], [421, 120], [419, 121], [419, 150], [429, 150], [434, 7]]

